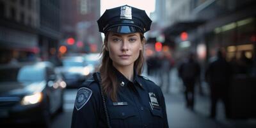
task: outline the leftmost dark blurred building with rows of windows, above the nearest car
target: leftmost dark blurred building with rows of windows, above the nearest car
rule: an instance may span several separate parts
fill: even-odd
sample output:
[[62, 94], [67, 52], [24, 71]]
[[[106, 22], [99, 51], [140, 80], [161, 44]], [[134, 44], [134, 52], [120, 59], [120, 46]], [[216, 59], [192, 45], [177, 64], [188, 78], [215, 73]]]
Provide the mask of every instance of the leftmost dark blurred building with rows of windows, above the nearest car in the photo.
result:
[[0, 63], [26, 61], [39, 52], [39, 1], [0, 1]]

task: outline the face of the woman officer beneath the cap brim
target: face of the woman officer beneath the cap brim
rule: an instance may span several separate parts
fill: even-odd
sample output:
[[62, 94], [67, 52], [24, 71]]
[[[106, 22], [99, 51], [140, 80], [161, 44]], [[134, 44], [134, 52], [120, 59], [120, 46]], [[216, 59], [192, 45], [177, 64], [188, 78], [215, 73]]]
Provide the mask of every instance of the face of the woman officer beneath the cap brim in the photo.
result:
[[109, 32], [106, 50], [115, 67], [134, 65], [143, 49], [140, 33], [118, 34]]

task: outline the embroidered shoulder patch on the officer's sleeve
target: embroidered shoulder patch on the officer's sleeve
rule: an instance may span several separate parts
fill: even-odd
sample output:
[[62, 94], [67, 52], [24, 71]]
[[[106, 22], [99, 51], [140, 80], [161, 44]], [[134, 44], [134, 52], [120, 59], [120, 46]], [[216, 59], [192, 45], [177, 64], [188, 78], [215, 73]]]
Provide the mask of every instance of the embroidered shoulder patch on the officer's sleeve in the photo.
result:
[[90, 90], [89, 88], [79, 88], [79, 90], [77, 91], [75, 102], [75, 107], [77, 111], [83, 108], [83, 106], [86, 104], [86, 102], [88, 102], [91, 96], [92, 90]]

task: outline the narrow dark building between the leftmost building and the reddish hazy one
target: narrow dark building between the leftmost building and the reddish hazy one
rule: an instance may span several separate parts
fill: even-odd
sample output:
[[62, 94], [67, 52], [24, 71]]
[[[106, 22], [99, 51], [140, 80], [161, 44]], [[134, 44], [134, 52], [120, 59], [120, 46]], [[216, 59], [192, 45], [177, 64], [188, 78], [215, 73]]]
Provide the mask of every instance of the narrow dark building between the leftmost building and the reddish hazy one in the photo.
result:
[[58, 54], [60, 31], [60, 0], [40, 0], [38, 46], [42, 60]]

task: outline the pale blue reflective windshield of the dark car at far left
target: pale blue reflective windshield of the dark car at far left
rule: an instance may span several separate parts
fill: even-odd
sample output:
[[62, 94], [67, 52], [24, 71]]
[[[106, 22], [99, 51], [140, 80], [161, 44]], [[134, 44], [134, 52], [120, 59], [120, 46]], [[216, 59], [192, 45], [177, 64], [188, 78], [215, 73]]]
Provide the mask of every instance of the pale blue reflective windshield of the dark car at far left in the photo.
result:
[[34, 82], [45, 79], [44, 68], [37, 66], [24, 66], [21, 68], [3, 68], [0, 69], [0, 82]]

